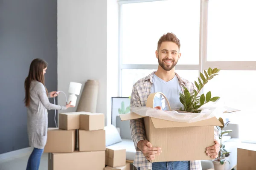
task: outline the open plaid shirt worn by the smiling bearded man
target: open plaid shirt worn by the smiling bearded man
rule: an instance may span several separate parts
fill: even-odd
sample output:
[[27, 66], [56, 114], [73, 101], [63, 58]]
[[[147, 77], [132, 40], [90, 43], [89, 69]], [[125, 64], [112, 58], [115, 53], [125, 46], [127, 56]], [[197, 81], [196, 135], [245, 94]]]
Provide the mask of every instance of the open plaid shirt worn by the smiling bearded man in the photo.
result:
[[[155, 71], [149, 74], [147, 77], [144, 77], [143, 79], [140, 79], [133, 85], [132, 93], [131, 93], [131, 107], [145, 107], [146, 102], [148, 99], [149, 94], [151, 94], [151, 87], [153, 85], [152, 82], [152, 77], [154, 75]], [[176, 73], [175, 73], [176, 74]], [[180, 86], [184, 85], [188, 89], [190, 93], [194, 89], [196, 89], [195, 85], [192, 82], [189, 82], [186, 79], [183, 79], [176, 74]], [[182, 88], [182, 92], [184, 93], [184, 89]], [[137, 144], [140, 140], [146, 140], [145, 136], [145, 127], [144, 127], [144, 122], [143, 118], [141, 119], [134, 119], [130, 120], [130, 128], [131, 128], [131, 137], [132, 140], [134, 141], [134, 146], [137, 148]], [[215, 127], [215, 140], [218, 139], [218, 130]], [[149, 162], [143, 153], [137, 148], [137, 151], [135, 153], [135, 158], [134, 158], [134, 166], [140, 167], [141, 170], [151, 170], [151, 162]], [[190, 170], [201, 170], [201, 161], [190, 161]]]

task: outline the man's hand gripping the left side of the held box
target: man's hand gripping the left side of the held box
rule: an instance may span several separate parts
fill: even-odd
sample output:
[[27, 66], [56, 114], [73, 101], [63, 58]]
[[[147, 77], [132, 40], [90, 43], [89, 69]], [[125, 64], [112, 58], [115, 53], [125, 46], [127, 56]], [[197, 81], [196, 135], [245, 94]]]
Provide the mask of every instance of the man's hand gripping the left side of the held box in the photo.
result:
[[160, 147], [152, 147], [152, 144], [147, 140], [138, 142], [137, 147], [142, 151], [148, 161], [154, 160], [162, 152]]

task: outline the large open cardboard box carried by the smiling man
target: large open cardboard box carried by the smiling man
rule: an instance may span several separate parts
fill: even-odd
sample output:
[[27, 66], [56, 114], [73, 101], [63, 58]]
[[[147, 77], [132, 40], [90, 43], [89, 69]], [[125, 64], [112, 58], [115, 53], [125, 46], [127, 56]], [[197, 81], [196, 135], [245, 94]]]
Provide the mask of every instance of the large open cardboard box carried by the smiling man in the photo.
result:
[[[122, 120], [143, 117], [133, 112], [119, 116]], [[211, 160], [206, 148], [214, 145], [214, 126], [221, 126], [216, 117], [193, 123], [144, 117], [144, 124], [148, 141], [162, 148], [152, 162]]]

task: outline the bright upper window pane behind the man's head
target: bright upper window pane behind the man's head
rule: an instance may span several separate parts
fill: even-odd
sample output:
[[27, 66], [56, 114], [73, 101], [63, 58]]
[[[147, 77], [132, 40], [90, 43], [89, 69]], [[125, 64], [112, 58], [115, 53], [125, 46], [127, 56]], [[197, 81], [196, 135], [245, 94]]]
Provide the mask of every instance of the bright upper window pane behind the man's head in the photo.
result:
[[157, 64], [157, 42], [167, 32], [180, 39], [178, 64], [198, 64], [199, 26], [200, 0], [123, 4], [122, 64]]

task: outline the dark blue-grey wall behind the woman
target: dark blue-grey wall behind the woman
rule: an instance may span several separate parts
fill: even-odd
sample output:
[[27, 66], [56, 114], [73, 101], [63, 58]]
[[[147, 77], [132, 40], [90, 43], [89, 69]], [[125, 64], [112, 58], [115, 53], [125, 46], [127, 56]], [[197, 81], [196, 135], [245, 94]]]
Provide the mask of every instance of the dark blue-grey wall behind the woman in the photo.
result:
[[49, 63], [46, 86], [57, 90], [57, 0], [0, 0], [0, 154], [29, 146], [23, 84], [34, 58]]

